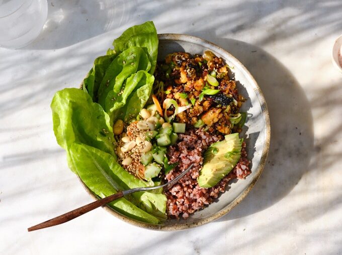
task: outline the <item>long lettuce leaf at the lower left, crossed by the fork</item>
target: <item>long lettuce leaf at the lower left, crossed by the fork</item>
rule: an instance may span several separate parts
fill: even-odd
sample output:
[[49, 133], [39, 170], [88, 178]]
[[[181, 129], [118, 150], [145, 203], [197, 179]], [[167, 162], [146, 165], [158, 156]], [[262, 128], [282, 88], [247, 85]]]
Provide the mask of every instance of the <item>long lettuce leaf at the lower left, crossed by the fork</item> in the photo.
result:
[[[74, 143], [70, 148], [70, 154], [77, 174], [100, 197], [109, 196], [118, 190], [147, 186], [145, 182], [125, 171], [112, 155], [99, 149]], [[145, 211], [159, 219], [166, 216], [166, 196], [163, 194], [136, 192], [127, 197], [128, 201], [121, 200], [120, 204], [119, 201], [114, 201], [110, 205], [125, 215], [140, 215], [140, 220], [151, 220], [151, 215], [146, 215]], [[145, 214], [142, 215], [141, 209], [145, 210]]]

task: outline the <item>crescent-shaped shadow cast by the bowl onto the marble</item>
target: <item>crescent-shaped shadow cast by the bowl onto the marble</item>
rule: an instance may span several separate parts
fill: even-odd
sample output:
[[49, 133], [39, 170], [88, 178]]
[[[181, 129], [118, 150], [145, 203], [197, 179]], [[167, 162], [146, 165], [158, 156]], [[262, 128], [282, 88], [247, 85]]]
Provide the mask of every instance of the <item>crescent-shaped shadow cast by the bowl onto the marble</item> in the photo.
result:
[[257, 46], [232, 39], [211, 38], [250, 71], [261, 87], [271, 120], [267, 164], [254, 188], [230, 213], [218, 221], [264, 210], [286, 196], [310, 170], [313, 120], [300, 84], [276, 58]]

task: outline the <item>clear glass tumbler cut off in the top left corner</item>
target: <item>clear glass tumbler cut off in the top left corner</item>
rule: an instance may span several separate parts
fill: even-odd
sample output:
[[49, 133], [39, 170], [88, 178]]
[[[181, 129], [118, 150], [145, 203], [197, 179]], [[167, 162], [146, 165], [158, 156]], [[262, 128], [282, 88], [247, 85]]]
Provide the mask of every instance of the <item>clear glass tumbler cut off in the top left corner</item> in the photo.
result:
[[0, 47], [18, 49], [40, 34], [47, 0], [0, 0]]

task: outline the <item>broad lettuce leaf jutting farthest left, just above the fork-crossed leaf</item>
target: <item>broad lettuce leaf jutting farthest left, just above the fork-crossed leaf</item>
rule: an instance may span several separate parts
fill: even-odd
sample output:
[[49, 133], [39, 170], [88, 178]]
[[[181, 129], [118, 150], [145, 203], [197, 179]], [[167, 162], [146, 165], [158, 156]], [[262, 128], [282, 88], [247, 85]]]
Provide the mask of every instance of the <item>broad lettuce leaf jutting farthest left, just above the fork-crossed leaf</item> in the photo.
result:
[[115, 155], [114, 134], [109, 115], [89, 94], [78, 88], [56, 92], [51, 102], [53, 131], [57, 143], [66, 151], [68, 165], [75, 172], [70, 159], [72, 143], [80, 142]]

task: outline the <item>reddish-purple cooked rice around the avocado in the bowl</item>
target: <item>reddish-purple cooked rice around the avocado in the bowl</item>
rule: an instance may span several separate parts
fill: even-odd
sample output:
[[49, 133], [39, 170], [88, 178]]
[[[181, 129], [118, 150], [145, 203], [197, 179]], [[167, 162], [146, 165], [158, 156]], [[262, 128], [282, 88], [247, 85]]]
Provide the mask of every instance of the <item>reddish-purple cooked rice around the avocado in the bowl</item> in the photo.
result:
[[[201, 129], [190, 130], [179, 136], [179, 142], [168, 148], [169, 163], [180, 162], [168, 172], [165, 180], [170, 181], [194, 163], [192, 170], [184, 176], [177, 185], [165, 192], [167, 197], [167, 214], [179, 218], [188, 218], [189, 214], [212, 203], [220, 192], [224, 192], [229, 180], [243, 179], [250, 174], [249, 162], [246, 158], [245, 143], [242, 143], [241, 158], [235, 168], [212, 188], [201, 188], [197, 177], [202, 169], [204, 152], [211, 144], [223, 140], [222, 136], [211, 135]], [[181, 161], [180, 161], [181, 159]]]

